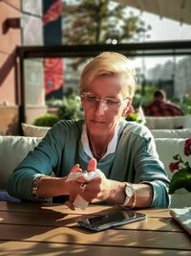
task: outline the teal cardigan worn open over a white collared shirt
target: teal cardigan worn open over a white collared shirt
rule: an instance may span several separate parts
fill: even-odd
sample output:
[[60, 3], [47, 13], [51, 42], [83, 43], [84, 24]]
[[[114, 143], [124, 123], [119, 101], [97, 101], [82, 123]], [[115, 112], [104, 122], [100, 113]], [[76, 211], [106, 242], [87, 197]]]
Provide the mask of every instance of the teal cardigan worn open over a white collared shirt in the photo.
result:
[[[15, 198], [33, 200], [32, 180], [35, 176], [65, 176], [76, 163], [86, 169], [90, 157], [81, 144], [83, 122], [60, 121], [54, 125], [11, 174], [9, 194]], [[97, 168], [110, 179], [151, 184], [154, 191], [151, 207], [169, 205], [169, 180], [148, 128], [135, 122], [122, 121], [116, 152], [101, 159]]]

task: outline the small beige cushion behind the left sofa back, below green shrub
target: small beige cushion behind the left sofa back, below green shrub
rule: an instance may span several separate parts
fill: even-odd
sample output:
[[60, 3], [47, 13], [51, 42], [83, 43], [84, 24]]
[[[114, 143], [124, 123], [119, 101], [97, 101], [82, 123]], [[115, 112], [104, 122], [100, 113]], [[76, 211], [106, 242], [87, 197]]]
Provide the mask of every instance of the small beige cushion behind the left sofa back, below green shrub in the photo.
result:
[[28, 124], [21, 124], [24, 136], [29, 137], [44, 137], [50, 128], [36, 127]]

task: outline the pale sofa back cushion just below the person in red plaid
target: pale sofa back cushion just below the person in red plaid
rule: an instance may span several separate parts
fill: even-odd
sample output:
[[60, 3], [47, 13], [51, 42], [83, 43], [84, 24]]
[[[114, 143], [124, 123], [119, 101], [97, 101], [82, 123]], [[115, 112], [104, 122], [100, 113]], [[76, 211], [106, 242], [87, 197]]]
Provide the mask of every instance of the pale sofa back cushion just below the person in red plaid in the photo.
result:
[[181, 129], [151, 129], [154, 138], [189, 138], [191, 137], [191, 128]]

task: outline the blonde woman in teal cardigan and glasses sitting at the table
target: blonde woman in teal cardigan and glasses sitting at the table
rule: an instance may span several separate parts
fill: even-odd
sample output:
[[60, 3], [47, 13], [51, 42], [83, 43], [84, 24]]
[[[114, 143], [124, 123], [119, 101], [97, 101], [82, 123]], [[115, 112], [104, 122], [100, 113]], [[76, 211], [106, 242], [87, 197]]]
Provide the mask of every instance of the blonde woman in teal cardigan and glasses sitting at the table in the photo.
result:
[[[49, 130], [12, 173], [11, 196], [70, 196], [73, 209], [76, 195], [129, 208], [167, 207], [169, 180], [154, 138], [148, 128], [125, 121], [135, 89], [128, 58], [105, 52], [90, 61], [79, 84], [84, 120], [60, 121]], [[99, 176], [88, 182], [66, 181], [71, 170], [97, 169]]]

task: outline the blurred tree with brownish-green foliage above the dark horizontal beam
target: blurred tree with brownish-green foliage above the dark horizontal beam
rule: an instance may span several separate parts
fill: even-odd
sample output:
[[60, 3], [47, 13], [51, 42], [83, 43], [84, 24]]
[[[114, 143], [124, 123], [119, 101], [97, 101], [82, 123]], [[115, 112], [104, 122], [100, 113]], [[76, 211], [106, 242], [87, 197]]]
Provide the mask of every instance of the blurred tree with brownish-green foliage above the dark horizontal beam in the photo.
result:
[[126, 7], [110, 0], [63, 3], [64, 43], [126, 43], [132, 39], [138, 41], [150, 29], [139, 16], [128, 15]]

